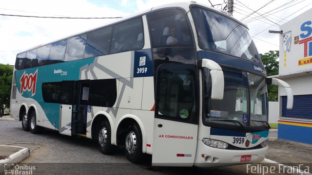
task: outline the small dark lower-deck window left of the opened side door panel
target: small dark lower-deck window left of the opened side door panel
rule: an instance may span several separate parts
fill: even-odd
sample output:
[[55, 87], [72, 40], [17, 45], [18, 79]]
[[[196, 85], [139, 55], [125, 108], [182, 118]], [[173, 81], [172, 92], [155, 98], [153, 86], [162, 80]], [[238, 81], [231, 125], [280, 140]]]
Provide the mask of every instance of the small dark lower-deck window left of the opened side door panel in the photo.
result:
[[43, 101], [47, 103], [59, 103], [61, 95], [61, 82], [42, 83]]

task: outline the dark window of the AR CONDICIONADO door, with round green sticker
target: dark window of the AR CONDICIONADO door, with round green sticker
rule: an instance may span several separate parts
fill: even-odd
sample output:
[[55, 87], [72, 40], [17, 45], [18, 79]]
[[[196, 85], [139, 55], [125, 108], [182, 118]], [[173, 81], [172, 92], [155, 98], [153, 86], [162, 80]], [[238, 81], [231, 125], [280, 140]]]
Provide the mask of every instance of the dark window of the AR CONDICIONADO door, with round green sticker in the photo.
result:
[[190, 67], [169, 70], [170, 67], [173, 65], [163, 64], [157, 70], [156, 115], [169, 120], [195, 122], [194, 71]]

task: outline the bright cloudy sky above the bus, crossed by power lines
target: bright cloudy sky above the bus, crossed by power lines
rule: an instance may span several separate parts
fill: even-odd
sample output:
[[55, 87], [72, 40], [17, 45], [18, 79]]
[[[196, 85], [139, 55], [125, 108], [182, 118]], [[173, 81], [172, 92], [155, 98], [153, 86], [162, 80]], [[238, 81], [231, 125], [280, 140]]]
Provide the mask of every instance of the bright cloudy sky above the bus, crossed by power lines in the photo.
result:
[[[126, 17], [176, 1], [186, 0], [0, 0], [0, 63], [14, 65], [17, 53], [116, 20], [26, 18], [3, 14], [71, 18]], [[209, 6], [212, 3], [217, 9], [223, 9], [227, 2], [195, 1]], [[279, 34], [269, 34], [268, 30], [279, 31], [280, 25], [310, 8], [311, 0], [234, 0], [233, 16], [247, 24], [258, 52], [263, 54], [279, 50]]]

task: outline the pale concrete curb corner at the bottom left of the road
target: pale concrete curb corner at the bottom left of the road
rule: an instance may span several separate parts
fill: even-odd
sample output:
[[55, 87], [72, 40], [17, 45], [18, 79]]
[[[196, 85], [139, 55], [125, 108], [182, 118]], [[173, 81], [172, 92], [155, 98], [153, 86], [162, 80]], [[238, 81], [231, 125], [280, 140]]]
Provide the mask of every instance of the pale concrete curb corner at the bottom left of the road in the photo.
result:
[[[3, 145], [3, 146], [5, 146], [5, 145]], [[14, 163], [19, 163], [20, 161], [22, 161], [26, 157], [30, 156], [29, 148], [24, 148], [24, 147], [20, 147], [20, 146], [9, 146], [9, 147], [18, 147], [18, 148], [21, 148], [21, 150], [14, 153], [14, 154], [11, 154], [9, 158], [0, 160], [0, 174], [2, 174], [5, 169], [9, 168], [9, 167], [4, 167], [4, 164], [10, 163], [10, 164], [13, 164], [12, 166], [14, 166]]]

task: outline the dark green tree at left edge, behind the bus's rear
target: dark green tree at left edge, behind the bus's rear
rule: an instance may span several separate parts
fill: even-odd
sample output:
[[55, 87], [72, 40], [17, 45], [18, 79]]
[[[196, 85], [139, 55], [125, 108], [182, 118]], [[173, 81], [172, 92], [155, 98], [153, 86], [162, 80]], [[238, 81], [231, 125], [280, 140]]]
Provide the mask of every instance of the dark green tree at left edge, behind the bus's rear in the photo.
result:
[[0, 64], [0, 117], [3, 116], [4, 109], [10, 107], [12, 77], [13, 67]]

